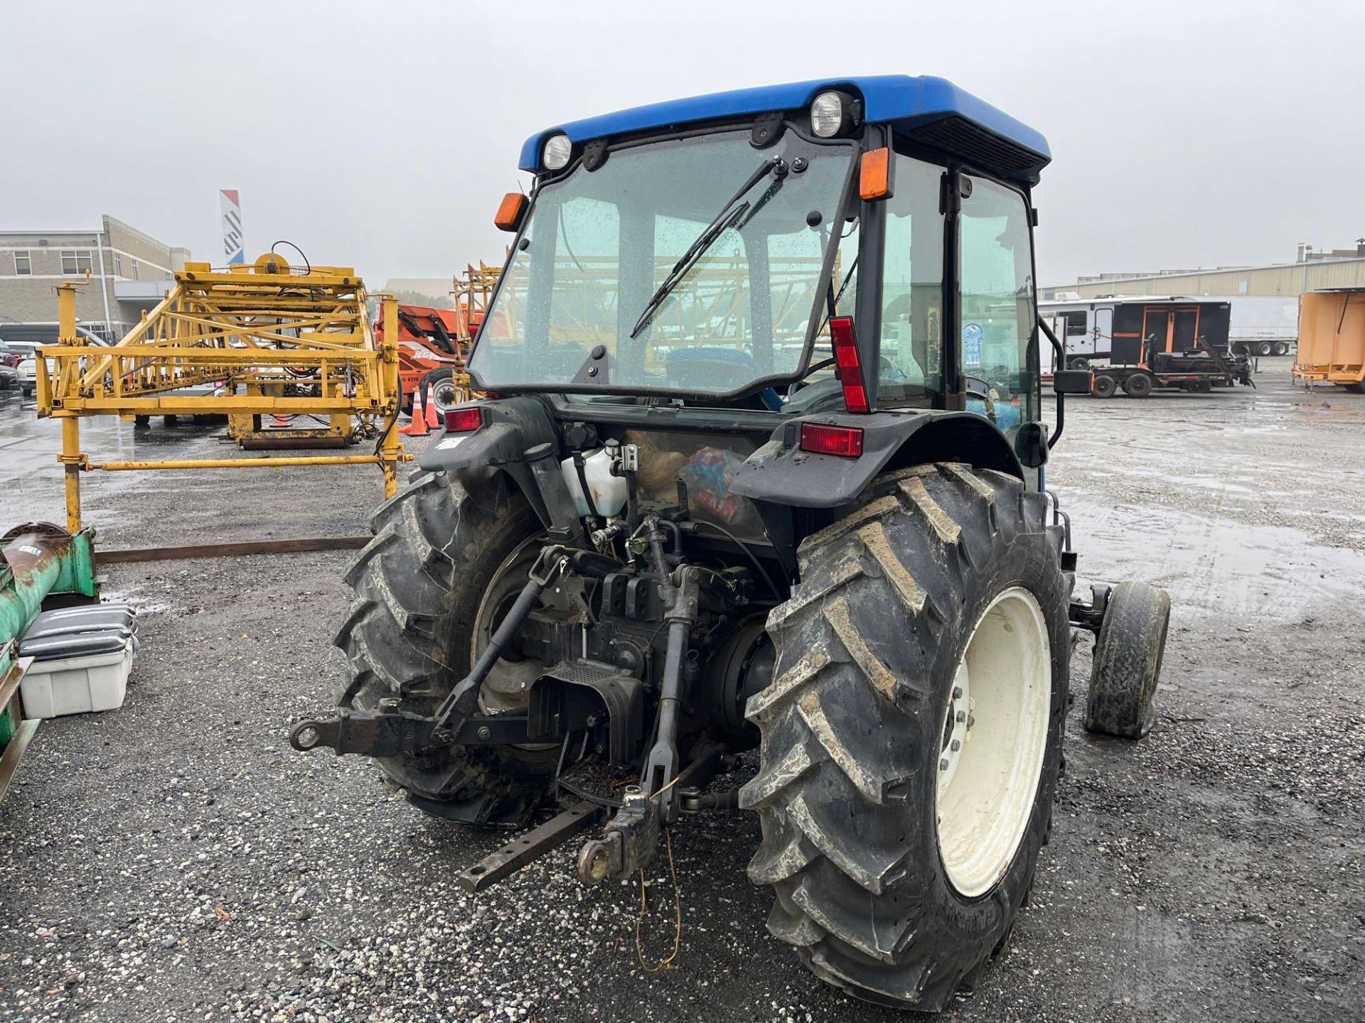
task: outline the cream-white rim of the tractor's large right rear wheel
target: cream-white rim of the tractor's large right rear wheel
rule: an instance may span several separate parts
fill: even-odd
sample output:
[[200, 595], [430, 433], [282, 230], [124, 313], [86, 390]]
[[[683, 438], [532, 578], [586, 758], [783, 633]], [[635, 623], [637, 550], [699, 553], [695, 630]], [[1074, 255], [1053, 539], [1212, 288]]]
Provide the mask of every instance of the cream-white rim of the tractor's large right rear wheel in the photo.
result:
[[939, 731], [939, 857], [966, 898], [984, 895], [1018, 851], [1047, 752], [1052, 657], [1037, 599], [1022, 587], [977, 619]]

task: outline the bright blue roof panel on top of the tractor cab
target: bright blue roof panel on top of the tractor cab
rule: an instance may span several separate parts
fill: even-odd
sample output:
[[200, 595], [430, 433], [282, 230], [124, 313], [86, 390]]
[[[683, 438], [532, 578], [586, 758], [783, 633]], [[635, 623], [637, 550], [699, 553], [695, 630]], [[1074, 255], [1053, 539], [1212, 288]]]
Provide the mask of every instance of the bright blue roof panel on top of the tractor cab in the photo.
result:
[[670, 100], [557, 124], [526, 140], [521, 147], [520, 168], [538, 170], [541, 146], [547, 136], [558, 132], [564, 132], [576, 143], [583, 143], [696, 121], [792, 110], [807, 106], [816, 93], [826, 89], [852, 89], [863, 97], [865, 120], [891, 124], [900, 135], [917, 138], [936, 149], [961, 155], [1003, 177], [1035, 183], [1039, 172], [1052, 158], [1041, 132], [946, 79], [930, 75], [919, 78], [872, 75], [736, 89], [729, 93]]

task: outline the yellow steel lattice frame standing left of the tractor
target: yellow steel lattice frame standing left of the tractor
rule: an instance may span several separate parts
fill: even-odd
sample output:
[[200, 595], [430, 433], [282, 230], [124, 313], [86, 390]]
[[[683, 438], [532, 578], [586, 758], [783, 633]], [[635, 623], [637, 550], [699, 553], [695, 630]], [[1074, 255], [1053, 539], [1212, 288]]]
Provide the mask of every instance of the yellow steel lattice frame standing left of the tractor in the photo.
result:
[[[75, 329], [75, 288], [57, 288], [59, 342], [37, 364], [38, 415], [61, 420], [67, 529], [81, 529], [81, 472], [90, 469], [238, 469], [285, 465], [378, 465], [385, 496], [397, 492], [397, 340], [374, 348], [363, 281], [349, 267], [293, 271], [277, 256], [213, 270], [187, 263], [162, 301], [113, 346], [86, 345]], [[384, 296], [385, 322], [397, 301]], [[51, 370], [49, 370], [51, 361]], [[221, 394], [184, 387], [222, 385]], [[303, 394], [298, 391], [306, 391]], [[293, 393], [289, 393], [293, 391]], [[229, 432], [259, 436], [265, 415], [325, 417], [318, 430], [265, 431], [307, 442], [382, 432], [374, 454], [111, 461], [81, 451], [81, 417], [227, 415]]]

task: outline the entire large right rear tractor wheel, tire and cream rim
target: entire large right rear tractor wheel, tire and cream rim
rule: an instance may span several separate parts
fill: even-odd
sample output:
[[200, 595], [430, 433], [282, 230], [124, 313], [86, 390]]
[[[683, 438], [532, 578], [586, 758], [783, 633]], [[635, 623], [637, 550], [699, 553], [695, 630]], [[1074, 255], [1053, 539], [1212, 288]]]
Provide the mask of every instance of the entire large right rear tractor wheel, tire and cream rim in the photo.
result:
[[942, 1009], [1028, 898], [1067, 701], [1061, 548], [1043, 495], [958, 464], [879, 477], [800, 547], [740, 803], [768, 930], [853, 996]]

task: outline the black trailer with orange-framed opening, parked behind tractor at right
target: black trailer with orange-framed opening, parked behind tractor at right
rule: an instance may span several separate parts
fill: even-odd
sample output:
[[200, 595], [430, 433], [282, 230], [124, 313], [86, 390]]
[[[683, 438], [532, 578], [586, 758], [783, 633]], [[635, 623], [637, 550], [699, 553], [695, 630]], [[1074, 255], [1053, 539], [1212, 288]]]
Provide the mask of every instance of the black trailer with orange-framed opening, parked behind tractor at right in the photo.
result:
[[1122, 387], [1145, 398], [1156, 387], [1207, 394], [1256, 386], [1250, 360], [1228, 351], [1228, 319], [1226, 301], [1115, 306], [1110, 366], [1096, 370], [1092, 393], [1108, 398]]

